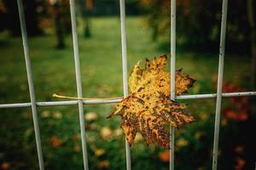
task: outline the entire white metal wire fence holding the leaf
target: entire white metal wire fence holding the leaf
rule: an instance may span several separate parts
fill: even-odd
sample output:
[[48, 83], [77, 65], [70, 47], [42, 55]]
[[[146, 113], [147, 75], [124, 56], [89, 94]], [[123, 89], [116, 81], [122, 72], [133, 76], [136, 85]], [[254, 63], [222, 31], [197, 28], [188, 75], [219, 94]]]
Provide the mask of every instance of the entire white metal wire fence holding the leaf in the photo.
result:
[[[34, 85], [32, 79], [32, 68], [29, 54], [28, 40], [26, 35], [26, 22], [24, 15], [24, 8], [22, 0], [17, 0], [19, 17], [20, 17], [20, 29], [22, 35], [22, 42], [24, 48], [24, 55], [26, 60], [26, 73], [29, 86], [29, 94], [31, 102], [29, 103], [15, 103], [15, 104], [0, 104], [0, 108], [15, 108], [15, 107], [31, 107], [32, 108], [32, 120], [36, 136], [37, 150], [38, 150], [38, 162], [40, 170], [44, 170], [44, 159], [41, 148], [40, 130], [38, 125], [38, 106], [50, 106], [50, 105], [78, 105], [79, 106], [79, 122], [82, 140], [83, 161], [84, 169], [88, 170], [88, 156], [86, 149], [85, 139], [85, 127], [84, 127], [84, 108], [83, 105], [88, 104], [106, 104], [106, 103], [118, 103], [121, 99], [108, 99], [108, 100], [68, 100], [68, 101], [46, 101], [37, 102], [34, 92]], [[125, 31], [125, 0], [119, 0], [120, 8], [120, 27], [121, 27], [121, 43], [122, 43], [122, 65], [123, 65], [123, 88], [124, 98], [128, 96], [128, 77], [127, 77], [127, 59], [126, 59], [126, 31]], [[217, 98], [216, 100], [216, 112], [215, 112], [215, 126], [214, 126], [214, 141], [213, 141], [213, 154], [212, 154], [212, 169], [216, 170], [218, 165], [218, 137], [219, 137], [219, 122], [221, 112], [221, 100], [222, 97], [239, 97], [256, 95], [256, 92], [238, 92], [238, 93], [222, 93], [223, 86], [223, 72], [224, 72], [224, 50], [225, 50], [225, 35], [226, 35], [226, 21], [227, 21], [227, 9], [228, 0], [223, 0], [222, 6], [222, 21], [221, 21], [221, 33], [219, 44], [219, 60], [218, 60], [218, 88], [216, 94], [195, 94], [195, 95], [181, 95], [175, 96], [175, 60], [176, 60], [176, 0], [171, 0], [171, 99], [207, 99]], [[72, 20], [72, 34], [73, 34], [73, 53], [75, 62], [76, 82], [78, 97], [82, 98], [82, 83], [79, 64], [79, 42], [77, 36], [77, 24], [75, 15], [75, 2], [70, 0], [70, 13]], [[171, 128], [171, 150], [170, 154], [170, 169], [174, 170], [174, 128]], [[128, 142], [125, 140], [126, 150], [126, 169], [131, 169], [131, 150]]]

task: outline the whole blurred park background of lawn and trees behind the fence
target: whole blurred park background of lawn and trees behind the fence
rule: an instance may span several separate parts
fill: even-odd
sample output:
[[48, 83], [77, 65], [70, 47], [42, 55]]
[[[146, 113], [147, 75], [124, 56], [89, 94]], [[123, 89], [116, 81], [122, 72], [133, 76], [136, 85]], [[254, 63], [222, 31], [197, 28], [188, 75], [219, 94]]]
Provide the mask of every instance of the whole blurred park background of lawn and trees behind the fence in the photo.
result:
[[[68, 0], [24, 0], [37, 101], [76, 96]], [[123, 95], [119, 1], [76, 0], [83, 95]], [[170, 57], [170, 0], [126, 0], [128, 71], [138, 60]], [[224, 92], [255, 91], [255, 4], [228, 9]], [[216, 93], [222, 1], [177, 0], [177, 68], [195, 78], [189, 94]], [[0, 103], [29, 102], [16, 1], [0, 0]], [[254, 38], [253, 38], [254, 37]], [[169, 66], [168, 66], [169, 68]], [[253, 101], [254, 99], [254, 101]], [[196, 122], [176, 131], [176, 169], [211, 169], [215, 99], [183, 100]], [[255, 98], [225, 98], [218, 169], [254, 169]], [[90, 169], [125, 169], [125, 138], [114, 105], [84, 105]], [[82, 169], [77, 105], [38, 107], [46, 169]], [[0, 169], [38, 169], [30, 108], [0, 110]], [[133, 169], [168, 169], [168, 150], [137, 134]]]

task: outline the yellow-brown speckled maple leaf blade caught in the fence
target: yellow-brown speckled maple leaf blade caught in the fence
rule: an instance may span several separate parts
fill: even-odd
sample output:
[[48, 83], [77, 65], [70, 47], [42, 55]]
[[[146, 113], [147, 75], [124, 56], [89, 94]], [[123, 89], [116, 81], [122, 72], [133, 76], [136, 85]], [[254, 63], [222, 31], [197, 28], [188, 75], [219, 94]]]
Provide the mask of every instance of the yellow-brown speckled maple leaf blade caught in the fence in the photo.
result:
[[[166, 122], [172, 127], [194, 122], [186, 110], [186, 105], [170, 99], [170, 73], [165, 71], [167, 55], [146, 59], [145, 68], [138, 62], [129, 78], [130, 95], [123, 99], [108, 116], [121, 116], [120, 127], [131, 145], [138, 132], [141, 132], [147, 144], [157, 144], [170, 148], [170, 133], [165, 129]], [[183, 76], [182, 70], [176, 71], [176, 94], [184, 94], [195, 82], [189, 76]]]

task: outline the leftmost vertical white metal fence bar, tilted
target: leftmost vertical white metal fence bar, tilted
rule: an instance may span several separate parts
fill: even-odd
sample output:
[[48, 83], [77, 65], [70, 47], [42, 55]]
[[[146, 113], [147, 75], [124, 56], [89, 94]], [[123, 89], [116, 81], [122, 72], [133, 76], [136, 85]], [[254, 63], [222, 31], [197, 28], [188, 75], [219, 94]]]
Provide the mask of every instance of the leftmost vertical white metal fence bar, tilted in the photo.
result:
[[33, 119], [34, 131], [36, 136], [39, 168], [40, 170], [44, 170], [44, 159], [43, 159], [43, 153], [42, 153], [42, 147], [41, 147], [40, 130], [39, 130], [39, 124], [38, 124], [38, 112], [37, 112], [34, 84], [32, 79], [32, 68], [31, 68], [30, 54], [29, 54], [29, 48], [28, 48], [27, 34], [26, 34], [26, 20], [25, 20], [25, 14], [24, 14], [24, 7], [23, 7], [22, 0], [17, 0], [17, 3], [18, 3], [18, 10], [19, 10], [19, 17], [20, 17], [22, 43], [23, 43], [24, 56], [25, 56], [25, 62], [26, 62], [28, 88], [29, 88], [29, 94], [30, 94], [30, 99], [32, 104], [32, 119]]

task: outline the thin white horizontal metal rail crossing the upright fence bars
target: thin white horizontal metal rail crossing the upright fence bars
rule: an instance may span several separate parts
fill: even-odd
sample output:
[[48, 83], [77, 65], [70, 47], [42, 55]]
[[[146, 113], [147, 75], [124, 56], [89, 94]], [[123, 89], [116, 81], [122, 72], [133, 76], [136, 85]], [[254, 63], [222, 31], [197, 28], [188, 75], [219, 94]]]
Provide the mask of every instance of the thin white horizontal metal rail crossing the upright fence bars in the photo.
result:
[[[224, 93], [222, 97], [242, 97], [242, 96], [253, 96], [256, 92], [236, 92], [236, 93]], [[176, 96], [176, 99], [210, 99], [216, 98], [217, 94], [193, 94], [193, 95], [180, 95]], [[82, 100], [84, 105], [94, 104], [111, 104], [119, 103], [122, 99], [90, 99]], [[38, 106], [58, 106], [58, 105], [78, 105], [79, 100], [67, 100], [67, 101], [40, 101], [36, 102]], [[16, 104], [0, 104], [1, 108], [20, 108], [20, 107], [31, 107], [31, 103], [16, 103]]]

